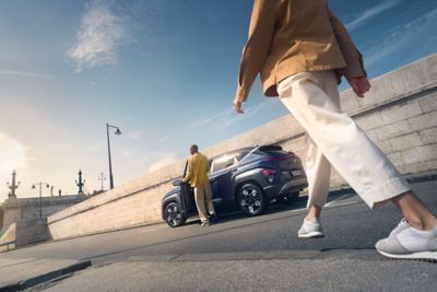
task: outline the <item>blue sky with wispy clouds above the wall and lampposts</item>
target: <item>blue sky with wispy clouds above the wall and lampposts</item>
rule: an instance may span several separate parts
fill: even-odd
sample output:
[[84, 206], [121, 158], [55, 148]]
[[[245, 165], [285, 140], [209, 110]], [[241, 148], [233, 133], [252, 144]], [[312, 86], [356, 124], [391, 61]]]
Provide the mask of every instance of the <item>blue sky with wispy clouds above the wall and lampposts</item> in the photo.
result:
[[[370, 78], [436, 51], [435, 0], [330, 0]], [[64, 194], [107, 176], [116, 185], [287, 114], [257, 81], [246, 114], [232, 109], [252, 1], [2, 1], [0, 183], [19, 196], [43, 180]], [[343, 84], [341, 89], [346, 89]], [[107, 182], [105, 184], [107, 185]], [[0, 201], [7, 197], [0, 188]], [[45, 192], [48, 194], [47, 191]]]

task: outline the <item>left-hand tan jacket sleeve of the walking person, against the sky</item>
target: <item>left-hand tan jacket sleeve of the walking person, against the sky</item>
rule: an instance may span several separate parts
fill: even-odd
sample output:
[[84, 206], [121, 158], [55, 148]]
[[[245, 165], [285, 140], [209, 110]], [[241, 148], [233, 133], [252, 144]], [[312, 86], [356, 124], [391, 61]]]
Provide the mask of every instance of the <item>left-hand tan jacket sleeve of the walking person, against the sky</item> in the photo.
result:
[[275, 25], [276, 1], [255, 0], [249, 35], [243, 49], [236, 97], [245, 102], [260, 72], [272, 42]]

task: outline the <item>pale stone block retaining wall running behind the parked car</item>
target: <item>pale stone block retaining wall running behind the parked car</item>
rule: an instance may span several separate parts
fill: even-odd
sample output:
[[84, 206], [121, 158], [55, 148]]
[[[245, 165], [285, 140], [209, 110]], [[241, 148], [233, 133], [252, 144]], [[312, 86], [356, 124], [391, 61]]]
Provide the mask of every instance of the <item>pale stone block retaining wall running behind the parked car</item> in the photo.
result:
[[[437, 168], [437, 55], [371, 81], [365, 98], [341, 94], [342, 107], [365, 129], [402, 174]], [[279, 143], [305, 157], [305, 133], [291, 116], [215, 144], [212, 156], [247, 145]], [[161, 221], [161, 198], [185, 161], [163, 167], [48, 218], [52, 238], [66, 238]], [[344, 185], [333, 172], [332, 187]]]

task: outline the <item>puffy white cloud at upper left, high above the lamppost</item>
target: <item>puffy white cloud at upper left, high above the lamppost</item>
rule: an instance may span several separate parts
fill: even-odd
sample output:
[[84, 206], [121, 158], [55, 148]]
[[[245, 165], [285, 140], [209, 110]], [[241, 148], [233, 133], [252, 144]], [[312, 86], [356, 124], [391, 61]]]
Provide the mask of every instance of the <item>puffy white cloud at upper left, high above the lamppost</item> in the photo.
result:
[[76, 45], [68, 51], [76, 72], [114, 65], [119, 48], [129, 43], [127, 21], [116, 13], [114, 1], [94, 0], [87, 5], [76, 33]]

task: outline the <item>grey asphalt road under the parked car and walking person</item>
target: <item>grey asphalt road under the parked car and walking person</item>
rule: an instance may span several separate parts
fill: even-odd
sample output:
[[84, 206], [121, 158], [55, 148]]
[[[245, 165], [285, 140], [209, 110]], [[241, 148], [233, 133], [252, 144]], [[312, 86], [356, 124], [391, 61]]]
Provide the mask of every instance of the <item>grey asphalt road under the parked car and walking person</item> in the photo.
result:
[[[437, 182], [413, 187], [437, 212]], [[322, 214], [327, 236], [298, 240], [304, 207], [302, 199], [291, 207], [272, 206], [257, 218], [228, 214], [208, 229], [198, 221], [178, 229], [158, 224], [46, 243], [1, 257], [93, 261], [94, 268], [35, 290], [436, 291], [436, 264], [386, 260], [374, 249], [401, 219], [394, 207], [369, 210], [352, 192], [331, 196]]]

